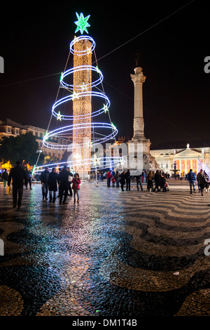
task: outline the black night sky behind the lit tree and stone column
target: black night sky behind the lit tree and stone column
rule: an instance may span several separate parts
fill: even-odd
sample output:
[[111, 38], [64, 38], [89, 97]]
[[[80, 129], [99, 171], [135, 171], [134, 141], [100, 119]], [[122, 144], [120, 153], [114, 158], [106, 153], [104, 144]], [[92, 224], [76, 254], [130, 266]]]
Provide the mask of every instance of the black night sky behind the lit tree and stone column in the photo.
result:
[[[130, 74], [134, 74], [139, 51], [146, 76], [146, 138], [152, 145], [209, 139], [210, 73], [204, 72], [204, 58], [210, 56], [207, 1], [145, 2], [1, 5], [0, 55], [5, 73], [0, 74], [0, 119], [47, 128], [60, 72], [75, 35], [77, 12], [90, 15], [88, 32], [96, 42], [111, 120], [119, 136], [132, 138], [134, 85]], [[72, 60], [71, 54], [68, 68]]]

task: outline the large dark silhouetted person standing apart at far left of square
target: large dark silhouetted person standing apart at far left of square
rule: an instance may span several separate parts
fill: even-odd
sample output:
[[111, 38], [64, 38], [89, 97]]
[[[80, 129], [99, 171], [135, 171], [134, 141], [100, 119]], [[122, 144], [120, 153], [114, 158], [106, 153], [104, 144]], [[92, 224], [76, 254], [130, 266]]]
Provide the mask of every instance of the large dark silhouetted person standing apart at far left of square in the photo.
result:
[[10, 187], [10, 182], [13, 178], [13, 208], [17, 206], [18, 200], [18, 209], [22, 205], [23, 185], [27, 183], [27, 174], [20, 164], [20, 161], [16, 161], [16, 166], [9, 173], [7, 183], [8, 187]]

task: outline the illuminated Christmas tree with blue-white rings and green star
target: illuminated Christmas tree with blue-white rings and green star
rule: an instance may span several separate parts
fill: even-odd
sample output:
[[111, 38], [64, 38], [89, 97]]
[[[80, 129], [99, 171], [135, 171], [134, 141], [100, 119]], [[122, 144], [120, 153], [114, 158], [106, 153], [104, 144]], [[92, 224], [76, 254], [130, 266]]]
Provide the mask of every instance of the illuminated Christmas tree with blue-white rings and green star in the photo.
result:
[[[73, 54], [73, 67], [64, 70], [59, 84], [59, 92], [67, 95], [62, 95], [62, 98], [56, 100], [52, 106], [52, 116], [48, 125], [49, 128], [52, 118], [55, 118], [55, 126], [59, 128], [54, 126], [55, 129], [52, 131], [48, 129], [43, 138], [43, 145], [52, 150], [67, 150], [69, 167], [78, 172], [80, 177], [87, 178], [90, 171], [104, 169], [109, 164], [104, 154], [98, 157], [95, 151], [99, 145], [115, 138], [118, 130], [111, 122], [110, 101], [102, 86], [103, 74], [98, 66], [92, 65], [93, 54], [94, 63], [97, 63], [94, 53], [95, 42], [91, 37], [83, 35], [83, 32], [88, 34], [87, 27], [90, 25], [87, 20], [90, 15], [84, 18], [83, 13], [76, 13], [76, 16], [78, 20], [75, 22], [75, 33], [80, 31], [82, 35], [71, 41], [69, 55]], [[99, 115], [104, 117], [104, 121], [95, 121]], [[107, 119], [109, 123], [106, 122]], [[66, 121], [70, 121], [67, 126], [64, 125]], [[55, 143], [55, 139], [62, 143]], [[119, 160], [120, 157], [112, 158], [115, 164], [119, 163]], [[62, 164], [50, 164], [51, 168], [55, 166]], [[36, 167], [34, 171], [40, 173], [43, 167]]]

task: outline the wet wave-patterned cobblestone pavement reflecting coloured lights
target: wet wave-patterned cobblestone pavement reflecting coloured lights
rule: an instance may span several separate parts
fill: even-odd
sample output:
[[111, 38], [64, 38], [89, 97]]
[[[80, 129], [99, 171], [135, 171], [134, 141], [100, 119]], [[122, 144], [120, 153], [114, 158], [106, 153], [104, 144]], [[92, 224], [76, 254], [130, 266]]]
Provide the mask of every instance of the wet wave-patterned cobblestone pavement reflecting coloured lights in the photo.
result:
[[[0, 315], [210, 315], [210, 194], [83, 183], [80, 203], [0, 185]], [[210, 251], [210, 248], [209, 248]]]

